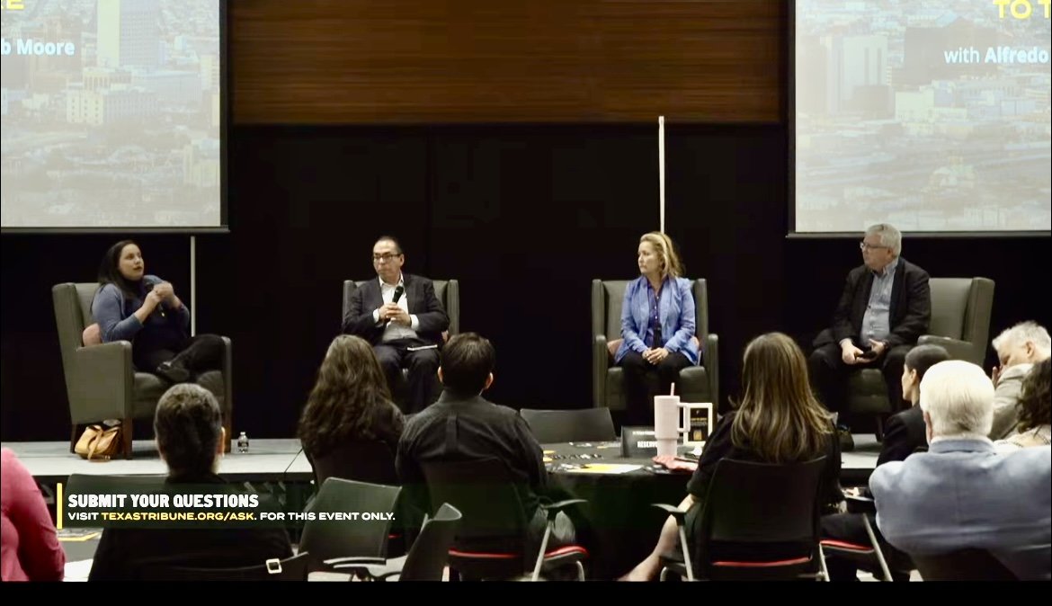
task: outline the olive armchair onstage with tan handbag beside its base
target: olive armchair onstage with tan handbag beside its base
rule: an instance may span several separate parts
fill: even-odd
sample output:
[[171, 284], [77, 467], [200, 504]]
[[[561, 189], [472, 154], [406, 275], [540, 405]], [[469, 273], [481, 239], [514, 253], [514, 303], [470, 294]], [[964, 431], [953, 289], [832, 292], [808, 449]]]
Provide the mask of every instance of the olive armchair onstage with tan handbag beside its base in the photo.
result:
[[[99, 289], [96, 282], [67, 282], [52, 287], [55, 321], [58, 324], [62, 369], [65, 372], [66, 396], [69, 400], [69, 451], [73, 452], [80, 426], [106, 419], [121, 420], [121, 451], [132, 458], [133, 423], [136, 419], [154, 419], [157, 402], [170, 384], [151, 372], [141, 372], [132, 363], [132, 342], [102, 343], [98, 325], [92, 317], [92, 301]], [[225, 451], [230, 450], [234, 390], [231, 388], [232, 355], [230, 340], [226, 345], [221, 370], [203, 372], [197, 378], [205, 389], [216, 396], [223, 411], [226, 428]]]

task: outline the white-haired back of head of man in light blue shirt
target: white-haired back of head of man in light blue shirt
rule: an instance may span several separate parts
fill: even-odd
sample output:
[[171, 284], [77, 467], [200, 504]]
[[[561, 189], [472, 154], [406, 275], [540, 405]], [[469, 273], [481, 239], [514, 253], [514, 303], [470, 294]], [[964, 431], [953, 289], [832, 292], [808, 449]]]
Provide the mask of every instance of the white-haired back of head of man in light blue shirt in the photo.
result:
[[980, 439], [993, 425], [993, 382], [964, 360], [939, 362], [920, 381], [920, 409], [933, 438]]

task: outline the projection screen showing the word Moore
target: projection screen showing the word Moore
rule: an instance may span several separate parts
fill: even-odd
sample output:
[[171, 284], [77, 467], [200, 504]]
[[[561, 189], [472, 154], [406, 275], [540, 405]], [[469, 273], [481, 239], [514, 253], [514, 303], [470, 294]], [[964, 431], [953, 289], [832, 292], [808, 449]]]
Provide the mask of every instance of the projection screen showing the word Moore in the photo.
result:
[[2, 227], [222, 229], [223, 0], [0, 0]]

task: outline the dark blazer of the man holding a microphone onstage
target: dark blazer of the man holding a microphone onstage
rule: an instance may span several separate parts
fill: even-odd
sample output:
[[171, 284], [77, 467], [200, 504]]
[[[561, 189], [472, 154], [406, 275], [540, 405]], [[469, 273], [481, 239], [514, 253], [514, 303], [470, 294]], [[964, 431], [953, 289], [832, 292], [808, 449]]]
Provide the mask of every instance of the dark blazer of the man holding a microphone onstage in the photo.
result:
[[[408, 300], [409, 315], [420, 319], [417, 335], [424, 341], [442, 346], [442, 331], [449, 328], [449, 317], [442, 302], [434, 296], [434, 284], [427, 278], [402, 274], [405, 284], [405, 296]], [[372, 312], [384, 304], [380, 292], [380, 279], [373, 278], [355, 289], [350, 296], [350, 308], [343, 317], [343, 332], [355, 335], [377, 345], [384, 335], [383, 324], [372, 321]]]

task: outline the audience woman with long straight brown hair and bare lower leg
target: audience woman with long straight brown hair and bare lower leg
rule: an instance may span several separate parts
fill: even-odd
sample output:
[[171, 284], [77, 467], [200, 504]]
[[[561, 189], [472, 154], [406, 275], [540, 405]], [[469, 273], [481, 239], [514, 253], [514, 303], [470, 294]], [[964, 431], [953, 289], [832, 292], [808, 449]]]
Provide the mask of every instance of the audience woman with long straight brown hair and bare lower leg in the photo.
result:
[[[745, 395], [741, 404], [713, 428], [687, 484], [687, 498], [680, 504], [680, 509], [687, 511], [685, 524], [693, 562], [706, 548], [691, 539], [702, 536], [697, 524], [705, 494], [722, 459], [778, 464], [825, 456], [820, 499], [827, 506], [843, 499], [839, 442], [829, 413], [811, 392], [807, 361], [796, 343], [780, 332], [753, 339], [745, 348], [742, 389]], [[771, 499], [777, 499], [777, 494], [771, 494]], [[623, 580], [653, 579], [660, 571], [661, 556], [677, 547], [675, 519], [669, 518], [653, 552]]]

